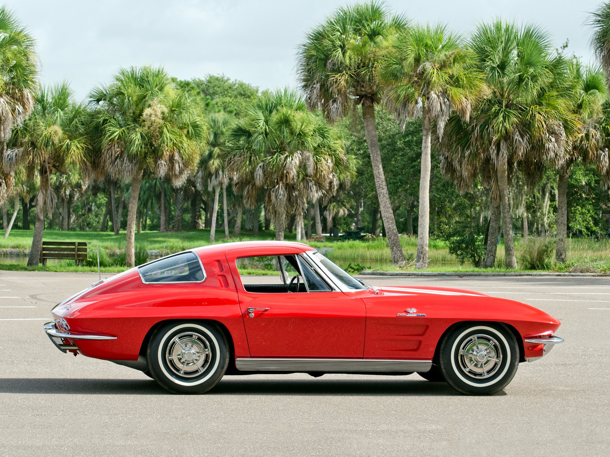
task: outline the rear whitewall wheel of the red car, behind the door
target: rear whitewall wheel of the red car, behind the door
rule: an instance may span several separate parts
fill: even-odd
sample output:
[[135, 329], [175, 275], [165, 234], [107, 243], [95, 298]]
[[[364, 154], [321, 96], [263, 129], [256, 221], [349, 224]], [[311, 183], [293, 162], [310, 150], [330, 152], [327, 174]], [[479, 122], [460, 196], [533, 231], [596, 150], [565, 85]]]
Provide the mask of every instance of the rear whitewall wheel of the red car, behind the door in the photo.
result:
[[229, 345], [217, 325], [171, 322], [157, 328], [148, 344], [152, 378], [174, 394], [203, 394], [226, 372]]

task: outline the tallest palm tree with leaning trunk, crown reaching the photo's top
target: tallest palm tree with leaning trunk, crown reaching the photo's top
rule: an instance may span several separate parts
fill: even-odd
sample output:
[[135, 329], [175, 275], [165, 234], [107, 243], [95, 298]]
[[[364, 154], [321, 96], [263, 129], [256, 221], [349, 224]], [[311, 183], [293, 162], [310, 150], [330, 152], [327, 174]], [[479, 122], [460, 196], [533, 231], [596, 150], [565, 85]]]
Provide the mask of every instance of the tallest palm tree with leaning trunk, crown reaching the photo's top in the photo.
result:
[[359, 3], [337, 9], [307, 34], [298, 51], [301, 88], [310, 108], [321, 108], [332, 122], [351, 112], [354, 105], [362, 106], [381, 216], [394, 263], [404, 262], [404, 253], [379, 153], [375, 105], [384, 90], [379, 69], [387, 40], [406, 26], [404, 16], [393, 15], [381, 2]]

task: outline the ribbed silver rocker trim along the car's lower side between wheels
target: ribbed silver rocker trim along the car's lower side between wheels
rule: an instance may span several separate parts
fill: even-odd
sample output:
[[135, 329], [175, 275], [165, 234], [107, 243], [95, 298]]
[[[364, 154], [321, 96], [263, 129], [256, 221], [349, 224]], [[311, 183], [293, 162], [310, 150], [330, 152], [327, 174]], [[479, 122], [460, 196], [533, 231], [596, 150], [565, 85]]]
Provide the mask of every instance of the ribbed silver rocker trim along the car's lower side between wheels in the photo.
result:
[[426, 372], [432, 367], [432, 361], [387, 359], [236, 358], [235, 367], [241, 371]]

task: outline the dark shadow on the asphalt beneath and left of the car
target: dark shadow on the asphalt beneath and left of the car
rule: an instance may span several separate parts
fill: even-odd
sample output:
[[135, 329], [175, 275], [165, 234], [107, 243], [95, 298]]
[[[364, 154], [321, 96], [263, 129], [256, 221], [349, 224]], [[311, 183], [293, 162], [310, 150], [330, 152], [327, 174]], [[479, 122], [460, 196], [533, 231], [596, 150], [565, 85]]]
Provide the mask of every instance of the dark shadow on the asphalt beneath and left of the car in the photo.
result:
[[[76, 378], [0, 378], [0, 394], [163, 395], [152, 380]], [[208, 395], [460, 395], [447, 383], [424, 380], [239, 379], [224, 378]], [[496, 396], [506, 395], [501, 391]]]

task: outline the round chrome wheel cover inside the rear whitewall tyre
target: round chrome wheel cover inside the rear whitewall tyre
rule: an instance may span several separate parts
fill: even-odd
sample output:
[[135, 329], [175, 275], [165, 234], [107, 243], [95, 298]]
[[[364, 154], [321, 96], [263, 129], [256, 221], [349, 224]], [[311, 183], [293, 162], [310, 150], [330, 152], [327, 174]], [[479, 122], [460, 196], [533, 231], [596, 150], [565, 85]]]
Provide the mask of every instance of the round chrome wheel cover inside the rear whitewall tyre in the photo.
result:
[[179, 377], [197, 377], [206, 371], [212, 361], [210, 343], [200, 333], [180, 333], [168, 342], [165, 361], [170, 370]]

